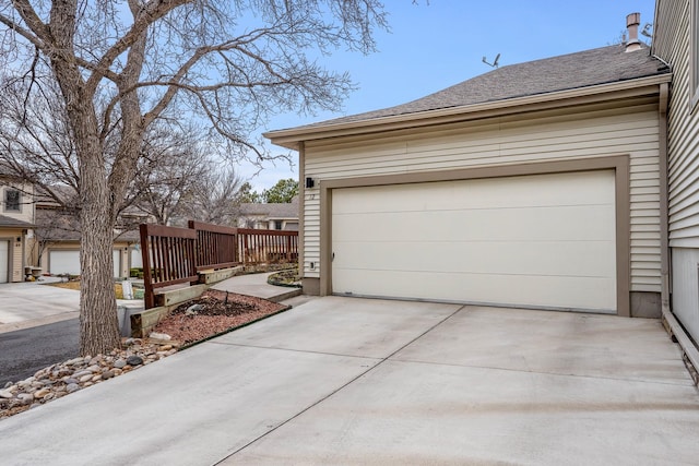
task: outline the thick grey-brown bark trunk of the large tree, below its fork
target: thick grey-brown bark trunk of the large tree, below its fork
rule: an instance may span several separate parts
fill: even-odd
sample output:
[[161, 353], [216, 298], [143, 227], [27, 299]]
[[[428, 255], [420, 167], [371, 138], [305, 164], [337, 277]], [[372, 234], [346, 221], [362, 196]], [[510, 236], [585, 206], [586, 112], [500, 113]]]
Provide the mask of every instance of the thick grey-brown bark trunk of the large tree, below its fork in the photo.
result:
[[80, 187], [80, 354], [92, 356], [121, 344], [114, 291], [111, 193], [99, 159], [82, 157]]

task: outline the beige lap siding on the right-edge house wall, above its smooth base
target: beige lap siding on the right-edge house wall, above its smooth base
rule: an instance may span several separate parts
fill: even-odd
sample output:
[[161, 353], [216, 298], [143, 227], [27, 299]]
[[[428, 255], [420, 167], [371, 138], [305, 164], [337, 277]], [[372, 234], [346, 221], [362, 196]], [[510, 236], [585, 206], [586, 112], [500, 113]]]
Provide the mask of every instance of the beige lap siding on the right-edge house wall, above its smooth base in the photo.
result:
[[[694, 1], [694, 0], [692, 0]], [[667, 115], [670, 246], [699, 248], [699, 109], [690, 100], [690, 1], [659, 0], [653, 51], [673, 68]]]

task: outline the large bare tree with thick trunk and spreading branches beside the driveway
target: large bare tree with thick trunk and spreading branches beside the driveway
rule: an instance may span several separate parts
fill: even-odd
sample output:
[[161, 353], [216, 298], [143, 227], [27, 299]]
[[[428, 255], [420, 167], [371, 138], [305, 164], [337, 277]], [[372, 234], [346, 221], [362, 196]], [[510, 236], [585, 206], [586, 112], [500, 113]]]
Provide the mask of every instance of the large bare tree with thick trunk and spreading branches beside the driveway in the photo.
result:
[[264, 157], [248, 134], [270, 111], [335, 109], [352, 89], [317, 50], [370, 51], [386, 24], [378, 0], [0, 0], [0, 25], [2, 84], [60, 89], [80, 174], [80, 350], [97, 354], [120, 344], [111, 236], [147, 129], [197, 112], [232, 154]]

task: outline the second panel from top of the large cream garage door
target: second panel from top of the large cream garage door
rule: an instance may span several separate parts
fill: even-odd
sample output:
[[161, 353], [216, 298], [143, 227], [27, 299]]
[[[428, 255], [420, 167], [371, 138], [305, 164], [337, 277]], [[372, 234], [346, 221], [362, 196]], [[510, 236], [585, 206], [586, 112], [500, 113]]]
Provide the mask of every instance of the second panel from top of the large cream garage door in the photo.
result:
[[474, 240], [606, 240], [614, 235], [614, 205], [470, 211], [343, 214], [333, 218], [335, 240], [429, 241]]

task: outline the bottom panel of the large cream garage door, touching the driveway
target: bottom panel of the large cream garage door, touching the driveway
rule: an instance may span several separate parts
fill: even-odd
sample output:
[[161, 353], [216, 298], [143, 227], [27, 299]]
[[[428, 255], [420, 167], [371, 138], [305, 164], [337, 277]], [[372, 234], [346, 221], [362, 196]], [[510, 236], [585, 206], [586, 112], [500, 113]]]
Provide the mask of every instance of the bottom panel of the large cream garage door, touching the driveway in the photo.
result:
[[[333, 280], [350, 282], [352, 271], [333, 270]], [[422, 274], [420, 272], [363, 271], [366, 282], [356, 289], [336, 289], [336, 294], [374, 296], [535, 309], [573, 309], [599, 313], [616, 312], [616, 288], [604, 278], [561, 276], [518, 276], [489, 274]], [[435, 291], [438, 290], [438, 295]], [[497, 296], [497, 301], [493, 297]], [[565, 302], [565, 304], [562, 304]]]

